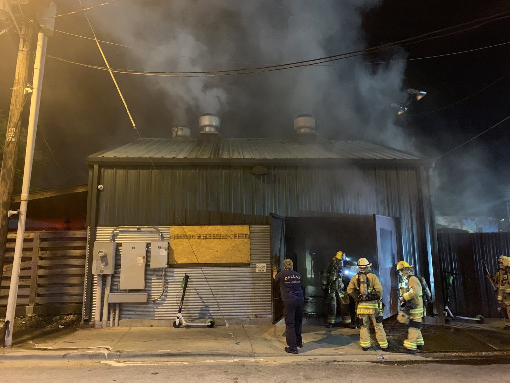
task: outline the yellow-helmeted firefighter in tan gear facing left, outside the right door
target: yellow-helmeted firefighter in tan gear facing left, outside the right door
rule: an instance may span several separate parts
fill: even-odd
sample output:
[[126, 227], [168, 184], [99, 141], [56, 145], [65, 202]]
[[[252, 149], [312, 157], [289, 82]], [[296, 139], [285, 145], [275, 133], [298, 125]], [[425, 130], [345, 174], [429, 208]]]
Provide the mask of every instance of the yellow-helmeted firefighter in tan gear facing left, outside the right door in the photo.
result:
[[[407, 323], [407, 338], [404, 340], [404, 347], [412, 354], [421, 351], [424, 346], [421, 327], [423, 317], [426, 315], [423, 305], [423, 288], [420, 280], [413, 274], [413, 265], [405, 260], [397, 264], [397, 272], [402, 277], [398, 286], [401, 312], [405, 312]], [[409, 322], [407, 322], [409, 320]]]

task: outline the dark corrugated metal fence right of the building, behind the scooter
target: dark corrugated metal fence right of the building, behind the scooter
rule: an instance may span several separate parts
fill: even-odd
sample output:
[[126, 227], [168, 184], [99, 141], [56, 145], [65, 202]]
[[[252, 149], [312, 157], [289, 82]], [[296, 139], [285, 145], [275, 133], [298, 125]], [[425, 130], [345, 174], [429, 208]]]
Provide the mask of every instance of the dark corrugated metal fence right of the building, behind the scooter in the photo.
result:
[[498, 317], [495, 294], [480, 258], [486, 259], [489, 272], [494, 273], [498, 256], [510, 255], [510, 233], [438, 233], [438, 243], [445, 294], [444, 272], [460, 274], [454, 277], [448, 304], [452, 313]]

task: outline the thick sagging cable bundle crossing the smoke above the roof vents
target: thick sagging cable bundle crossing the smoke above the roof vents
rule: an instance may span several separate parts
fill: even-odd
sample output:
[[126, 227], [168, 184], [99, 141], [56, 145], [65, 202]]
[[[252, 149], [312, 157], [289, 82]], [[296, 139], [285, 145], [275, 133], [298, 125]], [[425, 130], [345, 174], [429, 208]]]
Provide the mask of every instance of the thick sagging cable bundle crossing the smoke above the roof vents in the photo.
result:
[[[377, 45], [377, 46], [374, 46], [374, 47], [371, 47], [371, 48], [367, 48], [367, 49], [363, 49], [363, 50], [351, 51], [351, 52], [346, 52], [346, 53], [342, 53], [342, 54], [337, 54], [337, 55], [332, 55], [332, 56], [325, 56], [325, 57], [315, 58], [315, 59], [310, 59], [310, 60], [301, 60], [301, 61], [295, 61], [295, 62], [289, 62], [289, 63], [277, 64], [277, 65], [266, 65], [266, 66], [258, 66], [258, 67], [245, 67], [245, 68], [224, 69], [224, 70], [146, 72], [146, 71], [130, 71], [130, 70], [127, 70], [127, 69], [123, 69], [123, 70], [120, 70], [118, 73], [134, 72], [136, 74], [148, 74], [148, 73], [150, 73], [150, 74], [157, 74], [157, 75], [162, 75], [162, 74], [167, 74], [167, 75], [176, 75], [176, 74], [180, 74], [180, 75], [199, 75], [199, 74], [206, 74], [206, 75], [209, 75], [209, 74], [224, 74], [224, 73], [229, 73], [229, 74], [232, 73], [232, 74], [234, 74], [234, 73], [237, 73], [237, 72], [261, 73], [262, 71], [281, 70], [281, 68], [290, 69], [290, 68], [295, 68], [295, 67], [317, 65], [317, 64], [322, 64], [324, 62], [338, 61], [338, 60], [341, 60], [343, 58], [354, 57], [354, 56], [363, 55], [363, 54], [366, 54], [366, 53], [375, 53], [375, 52], [378, 52], [378, 51], [380, 51], [382, 49], [386, 49], [388, 47], [395, 46], [395, 45], [406, 45], [406, 44], [411, 44], [411, 43], [418, 43], [418, 42], [429, 40], [429, 39], [432, 39], [432, 38], [435, 39], [435, 38], [441, 38], [441, 37], [450, 36], [452, 34], [462, 33], [462, 32], [465, 32], [467, 30], [478, 28], [480, 25], [484, 25], [484, 24], [489, 23], [489, 22], [493, 22], [493, 21], [497, 21], [497, 20], [500, 20], [500, 19], [508, 18], [508, 17], [510, 17], [510, 15], [508, 13], [510, 13], [510, 11], [498, 13], [498, 14], [495, 14], [495, 15], [489, 16], [489, 17], [484, 17], [484, 18], [468, 21], [468, 22], [465, 22], [465, 23], [462, 23], [462, 24], [459, 24], [459, 25], [455, 25], [455, 26], [448, 27], [448, 28], [443, 28], [443, 29], [437, 30], [437, 31], [428, 32], [428, 33], [425, 33], [425, 34], [422, 34], [422, 35], [419, 35], [419, 36], [415, 36], [415, 37], [411, 37], [411, 38], [407, 38], [407, 39], [403, 39], [403, 40], [398, 40], [398, 41], [390, 42], [390, 43], [387, 43], [387, 44]], [[477, 22], [481, 22], [481, 21], [486, 21], [486, 22], [484, 22], [482, 24], [478, 24], [478, 25], [476, 25], [474, 27], [469, 27], [469, 28], [464, 29], [464, 30], [454, 31], [454, 32], [451, 32], [451, 33], [448, 33], [448, 34], [442, 34], [442, 35], [438, 35], [438, 36], [431, 36], [431, 35], [435, 35], [435, 34], [446, 32], [446, 31], [451, 31], [451, 30], [454, 30], [456, 28], [464, 27], [464, 26], [467, 26], [467, 25], [471, 25], [472, 23], [477, 23]], [[427, 36], [431, 36], [431, 37], [427, 37]], [[424, 37], [426, 37], [426, 38], [424, 38]], [[174, 76], [172, 76], [172, 77], [174, 77]], [[184, 76], [184, 77], [206, 77], [206, 76]]]

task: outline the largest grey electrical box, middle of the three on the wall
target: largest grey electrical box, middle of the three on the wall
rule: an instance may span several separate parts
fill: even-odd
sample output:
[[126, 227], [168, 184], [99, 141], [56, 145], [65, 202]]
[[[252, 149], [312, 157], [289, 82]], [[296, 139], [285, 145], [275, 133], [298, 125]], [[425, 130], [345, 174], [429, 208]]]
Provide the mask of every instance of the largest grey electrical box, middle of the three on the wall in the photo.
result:
[[120, 256], [120, 290], [145, 289], [146, 262], [146, 242], [129, 242], [122, 244]]

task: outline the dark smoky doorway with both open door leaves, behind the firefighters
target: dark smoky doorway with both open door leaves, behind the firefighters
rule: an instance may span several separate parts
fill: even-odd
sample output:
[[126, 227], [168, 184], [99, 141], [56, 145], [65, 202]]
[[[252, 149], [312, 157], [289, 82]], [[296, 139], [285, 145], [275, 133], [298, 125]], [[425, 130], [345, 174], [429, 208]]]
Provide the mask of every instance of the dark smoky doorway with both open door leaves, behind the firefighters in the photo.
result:
[[[397, 307], [398, 279], [393, 269], [398, 259], [398, 220], [380, 216], [345, 215], [337, 217], [284, 218], [271, 221], [273, 264], [284, 258], [294, 262], [294, 269], [303, 277], [305, 314], [318, 318], [326, 316], [326, 302], [321, 289], [322, 274], [338, 251], [347, 257], [348, 279], [357, 272], [356, 262], [365, 257], [372, 263], [372, 271], [379, 277], [385, 290], [385, 317]], [[377, 231], [379, 230], [379, 231]], [[282, 238], [282, 242], [280, 239]], [[279, 313], [273, 290], [273, 314]], [[353, 302], [351, 309], [353, 310]], [[340, 316], [339, 316], [340, 318]], [[277, 321], [275, 315], [273, 320]]]

